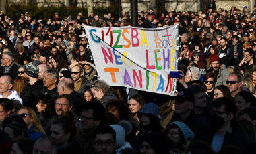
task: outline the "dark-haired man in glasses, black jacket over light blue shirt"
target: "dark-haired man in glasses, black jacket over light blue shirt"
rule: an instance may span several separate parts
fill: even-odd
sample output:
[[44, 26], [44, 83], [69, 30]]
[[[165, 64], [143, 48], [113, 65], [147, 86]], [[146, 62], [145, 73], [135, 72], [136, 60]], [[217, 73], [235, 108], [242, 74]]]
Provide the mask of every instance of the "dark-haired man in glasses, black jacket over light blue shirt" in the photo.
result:
[[247, 137], [245, 130], [236, 119], [236, 106], [226, 97], [212, 102], [212, 127], [204, 131], [201, 139], [207, 141], [218, 153], [226, 145], [234, 145], [243, 153], [256, 153], [255, 143]]

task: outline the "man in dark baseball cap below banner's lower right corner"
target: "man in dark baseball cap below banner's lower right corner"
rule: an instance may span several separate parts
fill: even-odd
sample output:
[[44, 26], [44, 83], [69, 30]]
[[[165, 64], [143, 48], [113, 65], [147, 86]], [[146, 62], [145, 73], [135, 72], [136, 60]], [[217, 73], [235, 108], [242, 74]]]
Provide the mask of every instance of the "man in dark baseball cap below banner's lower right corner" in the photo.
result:
[[[194, 113], [195, 96], [189, 90], [183, 90], [175, 96], [175, 117], [172, 117], [168, 125], [174, 121], [185, 123], [193, 133], [195, 140], [200, 139], [201, 132], [210, 128], [210, 125], [205, 123], [203, 119], [197, 117]], [[167, 125], [167, 127], [168, 127]]]

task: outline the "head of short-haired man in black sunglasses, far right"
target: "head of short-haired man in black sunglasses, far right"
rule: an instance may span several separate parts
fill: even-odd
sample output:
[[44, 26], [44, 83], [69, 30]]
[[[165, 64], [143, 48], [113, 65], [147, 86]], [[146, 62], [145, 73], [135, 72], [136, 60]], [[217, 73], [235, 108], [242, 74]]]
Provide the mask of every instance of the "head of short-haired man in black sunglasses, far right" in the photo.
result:
[[231, 92], [232, 101], [234, 102], [234, 97], [238, 92], [241, 92], [241, 76], [239, 74], [230, 74], [228, 76], [228, 80], [226, 80], [226, 86], [228, 86], [228, 89]]

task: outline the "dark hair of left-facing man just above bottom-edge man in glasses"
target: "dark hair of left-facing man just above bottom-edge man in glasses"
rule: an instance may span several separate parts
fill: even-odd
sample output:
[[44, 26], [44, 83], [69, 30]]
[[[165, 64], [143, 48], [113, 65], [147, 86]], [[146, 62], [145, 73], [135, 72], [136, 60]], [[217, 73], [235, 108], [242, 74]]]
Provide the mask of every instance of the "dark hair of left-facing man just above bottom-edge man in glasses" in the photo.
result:
[[94, 119], [100, 120], [100, 123], [103, 123], [105, 119], [105, 114], [106, 114], [104, 106], [100, 104], [100, 102], [96, 102], [96, 101], [88, 101], [82, 104], [82, 112], [84, 112], [84, 110], [90, 110], [90, 109], [94, 111], [93, 113]]

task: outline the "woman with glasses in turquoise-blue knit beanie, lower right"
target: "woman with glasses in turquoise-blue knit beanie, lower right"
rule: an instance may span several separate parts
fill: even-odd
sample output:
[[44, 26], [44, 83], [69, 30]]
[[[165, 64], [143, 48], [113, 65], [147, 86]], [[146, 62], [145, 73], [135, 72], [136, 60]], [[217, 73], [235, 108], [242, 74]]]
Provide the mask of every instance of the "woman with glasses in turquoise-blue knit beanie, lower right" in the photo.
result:
[[195, 136], [193, 131], [191, 131], [191, 129], [189, 129], [187, 125], [179, 121], [171, 123], [166, 128], [164, 133], [168, 137], [170, 137], [170, 139], [174, 141], [176, 145], [176, 149], [170, 149], [170, 154], [185, 153], [187, 147], [189, 147], [189, 144], [191, 143]]

